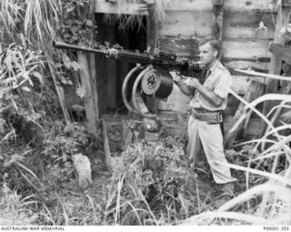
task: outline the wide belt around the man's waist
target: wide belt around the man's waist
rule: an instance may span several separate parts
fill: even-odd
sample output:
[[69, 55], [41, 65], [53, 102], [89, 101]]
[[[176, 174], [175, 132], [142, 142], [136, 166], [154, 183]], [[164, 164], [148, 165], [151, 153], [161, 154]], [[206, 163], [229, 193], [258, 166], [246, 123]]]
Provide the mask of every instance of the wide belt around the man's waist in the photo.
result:
[[208, 124], [219, 124], [223, 122], [221, 111], [208, 111], [206, 109], [191, 109], [191, 116], [196, 120], [204, 121]]

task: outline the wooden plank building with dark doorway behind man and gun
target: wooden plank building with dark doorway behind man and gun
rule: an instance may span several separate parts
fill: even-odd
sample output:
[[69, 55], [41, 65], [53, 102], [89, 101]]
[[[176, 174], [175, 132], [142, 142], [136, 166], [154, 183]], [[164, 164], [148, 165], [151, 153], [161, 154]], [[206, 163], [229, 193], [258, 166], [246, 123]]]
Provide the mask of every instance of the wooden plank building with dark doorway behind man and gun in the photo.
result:
[[[276, 18], [280, 8], [276, 0], [169, 0], [166, 1], [166, 19], [154, 20], [155, 1], [95, 0], [95, 23], [97, 40], [119, 44], [125, 49], [139, 49], [158, 46], [167, 53], [193, 58], [198, 53], [198, 42], [205, 37], [221, 41], [221, 61], [233, 77], [232, 89], [246, 100], [256, 98], [266, 91], [265, 80], [256, 83], [248, 76], [235, 71], [236, 68], [254, 68], [268, 72], [271, 53], [268, 47], [276, 40]], [[280, 1], [279, 1], [280, 2]], [[147, 5], [146, 5], [147, 3]], [[121, 5], [122, 4], [122, 5]], [[105, 15], [136, 16], [142, 20], [142, 27], [118, 30], [116, 24], [105, 24]], [[135, 64], [112, 61], [96, 56], [95, 76], [99, 116], [109, 110], [122, 107], [121, 85], [130, 67]], [[256, 89], [256, 95], [249, 93], [249, 86]], [[270, 84], [268, 84], [270, 86]], [[166, 102], [154, 101], [159, 110], [186, 112], [189, 99], [174, 88]], [[151, 102], [153, 105], [153, 101]], [[226, 129], [239, 109], [239, 101], [229, 96], [225, 111]], [[263, 108], [263, 106], [261, 106]], [[239, 110], [238, 110], [239, 112]], [[256, 118], [254, 119], [256, 120]], [[251, 124], [254, 125], [254, 124]], [[258, 128], [260, 129], [260, 128]], [[253, 132], [252, 132], [253, 133]], [[256, 134], [257, 131], [254, 131]]]

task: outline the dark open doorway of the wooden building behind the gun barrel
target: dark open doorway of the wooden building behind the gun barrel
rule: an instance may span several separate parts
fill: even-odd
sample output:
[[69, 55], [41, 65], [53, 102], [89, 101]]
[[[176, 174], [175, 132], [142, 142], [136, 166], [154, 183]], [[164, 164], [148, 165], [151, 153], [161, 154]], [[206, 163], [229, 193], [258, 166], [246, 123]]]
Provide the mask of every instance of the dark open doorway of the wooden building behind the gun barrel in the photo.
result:
[[[126, 15], [125, 15], [126, 16]], [[128, 15], [129, 16], [129, 15]], [[110, 47], [121, 45], [123, 49], [143, 53], [146, 50], [146, 16], [142, 25], [119, 30], [118, 24], [107, 24], [104, 14], [95, 14], [97, 41]], [[122, 101], [122, 84], [125, 76], [135, 66], [135, 62], [113, 60], [96, 55], [96, 77], [101, 114], [105, 112], [126, 112]], [[131, 86], [132, 83], [129, 83]]]

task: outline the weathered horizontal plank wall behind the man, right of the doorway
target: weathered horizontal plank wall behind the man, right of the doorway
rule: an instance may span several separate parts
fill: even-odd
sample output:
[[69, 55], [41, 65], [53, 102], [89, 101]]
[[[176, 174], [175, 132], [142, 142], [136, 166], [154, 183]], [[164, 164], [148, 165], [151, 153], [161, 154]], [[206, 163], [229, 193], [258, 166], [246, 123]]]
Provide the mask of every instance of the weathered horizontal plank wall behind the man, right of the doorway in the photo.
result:
[[[212, 0], [172, 0], [166, 9], [166, 22], [159, 25], [160, 49], [181, 57], [197, 55], [198, 41], [212, 35]], [[250, 80], [233, 71], [234, 68], [254, 67], [268, 70], [268, 45], [274, 39], [277, 5], [272, 0], [225, 0], [222, 62], [233, 76], [232, 88], [244, 96]], [[260, 22], [266, 30], [259, 29]], [[173, 101], [176, 101], [174, 104]], [[226, 113], [234, 115], [237, 103], [230, 100]], [[159, 102], [159, 109], [181, 111], [187, 107], [186, 98], [174, 89], [167, 102]]]

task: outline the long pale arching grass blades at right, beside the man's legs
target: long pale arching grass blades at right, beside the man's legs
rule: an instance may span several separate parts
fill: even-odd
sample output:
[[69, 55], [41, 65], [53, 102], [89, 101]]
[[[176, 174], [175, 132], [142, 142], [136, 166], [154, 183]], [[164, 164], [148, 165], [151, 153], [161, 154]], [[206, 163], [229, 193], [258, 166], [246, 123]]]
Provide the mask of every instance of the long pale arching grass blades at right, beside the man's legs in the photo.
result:
[[[246, 105], [245, 113], [236, 126], [248, 120], [251, 113], [254, 112], [264, 120], [270, 130], [267, 130], [266, 135], [262, 138], [245, 143], [254, 146], [249, 156], [248, 166], [227, 165], [234, 170], [242, 170], [246, 173], [246, 191], [226, 202], [215, 211], [203, 212], [188, 218], [183, 225], [290, 225], [291, 150], [288, 145], [291, 141], [291, 136], [282, 135], [281, 132], [290, 129], [291, 126], [288, 124], [282, 126], [273, 125], [274, 118], [269, 119], [267, 116], [263, 116], [255, 107], [259, 103], [269, 100], [290, 103], [291, 97], [288, 95], [265, 95], [258, 97], [251, 103], [247, 103], [233, 91], [231, 91], [231, 94]], [[284, 105], [282, 104], [281, 107], [284, 107]], [[272, 109], [272, 111], [275, 110]], [[272, 136], [271, 139], [269, 138], [270, 136]], [[266, 142], [269, 142], [270, 145], [260, 151], [259, 147]], [[259, 165], [253, 168], [250, 164], [254, 162]], [[262, 164], [266, 170], [257, 169]], [[263, 183], [249, 188], [249, 177], [254, 174], [257, 178], [261, 178]], [[254, 198], [258, 199], [258, 203], [251, 206], [250, 201]]]

